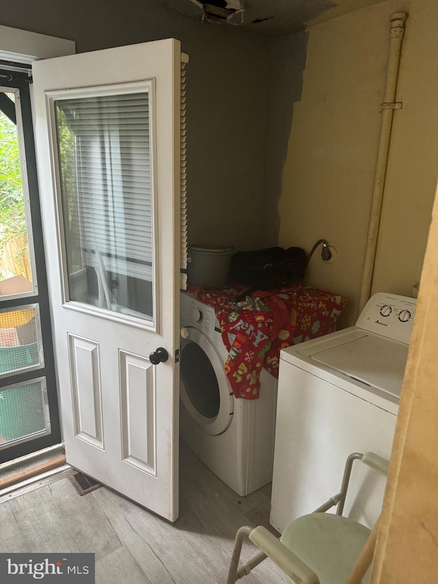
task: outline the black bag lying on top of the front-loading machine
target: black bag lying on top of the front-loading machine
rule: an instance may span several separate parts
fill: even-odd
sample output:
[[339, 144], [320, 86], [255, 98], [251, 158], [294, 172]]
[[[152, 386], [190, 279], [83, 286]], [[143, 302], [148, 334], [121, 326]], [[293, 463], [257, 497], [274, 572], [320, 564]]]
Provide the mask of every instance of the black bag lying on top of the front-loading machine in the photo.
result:
[[229, 278], [251, 291], [275, 290], [302, 281], [306, 267], [307, 255], [300, 247], [237, 251], [231, 257]]

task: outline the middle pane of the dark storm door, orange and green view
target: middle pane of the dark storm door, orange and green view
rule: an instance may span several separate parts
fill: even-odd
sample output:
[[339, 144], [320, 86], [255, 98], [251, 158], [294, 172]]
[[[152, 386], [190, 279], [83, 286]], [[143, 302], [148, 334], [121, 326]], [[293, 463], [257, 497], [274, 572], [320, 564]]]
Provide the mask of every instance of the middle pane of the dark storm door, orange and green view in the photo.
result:
[[0, 311], [0, 377], [44, 366], [38, 307]]

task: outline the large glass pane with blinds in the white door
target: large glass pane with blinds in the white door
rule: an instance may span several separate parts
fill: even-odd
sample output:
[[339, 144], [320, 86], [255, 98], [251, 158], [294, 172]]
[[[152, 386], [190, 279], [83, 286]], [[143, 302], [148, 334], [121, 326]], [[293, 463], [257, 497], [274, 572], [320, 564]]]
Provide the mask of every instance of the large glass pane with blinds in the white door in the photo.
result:
[[55, 102], [70, 301], [153, 318], [149, 94]]

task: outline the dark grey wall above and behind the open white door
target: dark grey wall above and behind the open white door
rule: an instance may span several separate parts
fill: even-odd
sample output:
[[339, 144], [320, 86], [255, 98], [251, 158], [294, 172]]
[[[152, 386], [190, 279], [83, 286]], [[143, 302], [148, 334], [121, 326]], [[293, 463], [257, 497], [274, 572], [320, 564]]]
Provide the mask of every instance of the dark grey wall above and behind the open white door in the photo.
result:
[[175, 37], [188, 66], [191, 242], [263, 240], [270, 49], [267, 38], [203, 24], [153, 0], [0, 0], [0, 24], [70, 38], [78, 52]]

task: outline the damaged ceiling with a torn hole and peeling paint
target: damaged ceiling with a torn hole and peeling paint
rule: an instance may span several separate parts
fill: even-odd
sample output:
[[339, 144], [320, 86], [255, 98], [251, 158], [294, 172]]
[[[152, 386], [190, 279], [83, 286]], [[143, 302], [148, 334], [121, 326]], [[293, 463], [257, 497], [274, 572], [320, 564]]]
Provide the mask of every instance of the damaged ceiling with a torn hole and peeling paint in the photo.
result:
[[172, 10], [214, 24], [288, 34], [383, 0], [158, 0]]

